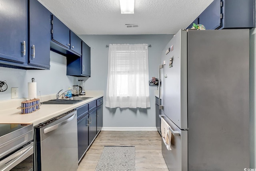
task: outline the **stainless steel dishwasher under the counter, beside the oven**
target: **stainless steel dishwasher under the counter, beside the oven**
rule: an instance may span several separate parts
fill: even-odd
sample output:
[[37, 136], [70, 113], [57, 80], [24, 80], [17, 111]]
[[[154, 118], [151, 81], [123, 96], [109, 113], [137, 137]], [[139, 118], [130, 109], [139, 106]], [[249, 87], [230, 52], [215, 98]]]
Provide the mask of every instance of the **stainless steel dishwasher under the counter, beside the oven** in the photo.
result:
[[36, 171], [76, 171], [78, 144], [76, 110], [34, 127]]

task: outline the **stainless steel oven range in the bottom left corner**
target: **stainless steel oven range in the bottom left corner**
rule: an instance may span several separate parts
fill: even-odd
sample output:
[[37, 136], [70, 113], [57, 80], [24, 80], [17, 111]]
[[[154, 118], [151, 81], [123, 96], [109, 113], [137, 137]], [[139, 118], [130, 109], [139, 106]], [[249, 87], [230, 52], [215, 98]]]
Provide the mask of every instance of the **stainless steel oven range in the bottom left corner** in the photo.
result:
[[33, 171], [33, 124], [0, 124], [0, 170]]

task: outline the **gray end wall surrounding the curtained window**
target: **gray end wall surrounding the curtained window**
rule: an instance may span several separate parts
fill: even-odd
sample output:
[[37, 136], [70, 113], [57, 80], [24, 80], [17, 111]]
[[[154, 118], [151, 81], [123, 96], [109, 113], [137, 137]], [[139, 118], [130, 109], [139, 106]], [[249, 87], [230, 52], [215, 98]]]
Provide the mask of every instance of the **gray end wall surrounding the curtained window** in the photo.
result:
[[[79, 35], [91, 47], [91, 77], [86, 81], [86, 90], [104, 90], [106, 96], [108, 75], [108, 44], [147, 43], [149, 54], [149, 78], [158, 78], [158, 65], [162, 48], [173, 35]], [[86, 80], [86, 79], [85, 79]], [[156, 86], [150, 86], [150, 108], [103, 108], [104, 127], [155, 127]], [[104, 102], [105, 102], [104, 98]], [[105, 103], [104, 103], [105, 106]]]

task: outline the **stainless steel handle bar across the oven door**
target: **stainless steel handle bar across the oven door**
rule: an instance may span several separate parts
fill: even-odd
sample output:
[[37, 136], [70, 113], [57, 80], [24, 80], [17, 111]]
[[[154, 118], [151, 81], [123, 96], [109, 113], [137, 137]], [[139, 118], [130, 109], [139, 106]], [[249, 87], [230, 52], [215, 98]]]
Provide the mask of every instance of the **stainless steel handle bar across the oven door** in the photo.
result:
[[0, 170], [1, 171], [9, 171], [24, 159], [28, 158], [30, 155], [34, 153], [34, 142], [30, 142], [28, 145], [23, 147], [22, 149], [16, 151], [12, 155], [6, 157], [2, 161], [0, 161]]

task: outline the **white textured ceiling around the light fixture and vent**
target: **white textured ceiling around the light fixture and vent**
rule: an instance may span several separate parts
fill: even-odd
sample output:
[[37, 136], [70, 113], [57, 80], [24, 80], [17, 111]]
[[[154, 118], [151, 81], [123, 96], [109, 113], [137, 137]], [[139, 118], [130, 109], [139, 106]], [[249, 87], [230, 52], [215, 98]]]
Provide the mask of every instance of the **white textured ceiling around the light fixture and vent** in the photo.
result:
[[129, 35], [176, 33], [213, 0], [135, 0], [134, 14], [121, 14], [119, 0], [38, 1], [76, 34]]

